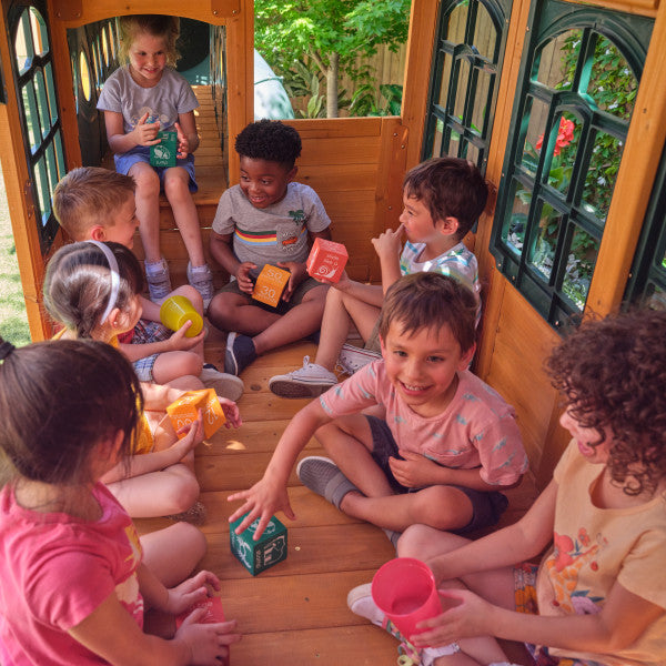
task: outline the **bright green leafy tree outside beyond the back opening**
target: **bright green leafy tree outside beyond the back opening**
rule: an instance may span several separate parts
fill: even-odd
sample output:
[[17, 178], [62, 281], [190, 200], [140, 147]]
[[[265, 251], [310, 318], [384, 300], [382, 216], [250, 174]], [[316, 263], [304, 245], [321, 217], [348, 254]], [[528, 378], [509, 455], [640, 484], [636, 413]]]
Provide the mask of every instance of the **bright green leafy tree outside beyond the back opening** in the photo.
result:
[[340, 72], [361, 72], [359, 56], [407, 39], [411, 0], [255, 0], [256, 47], [276, 69], [310, 59], [326, 81], [326, 115], [337, 118]]

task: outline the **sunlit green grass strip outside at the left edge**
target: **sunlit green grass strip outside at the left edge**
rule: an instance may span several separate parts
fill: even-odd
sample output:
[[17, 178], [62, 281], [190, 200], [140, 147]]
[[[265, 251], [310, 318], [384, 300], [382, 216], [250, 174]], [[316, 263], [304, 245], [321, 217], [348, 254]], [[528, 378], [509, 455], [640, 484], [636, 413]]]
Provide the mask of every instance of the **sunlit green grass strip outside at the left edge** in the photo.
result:
[[16, 346], [30, 343], [17, 246], [11, 233], [4, 180], [0, 170], [0, 335]]

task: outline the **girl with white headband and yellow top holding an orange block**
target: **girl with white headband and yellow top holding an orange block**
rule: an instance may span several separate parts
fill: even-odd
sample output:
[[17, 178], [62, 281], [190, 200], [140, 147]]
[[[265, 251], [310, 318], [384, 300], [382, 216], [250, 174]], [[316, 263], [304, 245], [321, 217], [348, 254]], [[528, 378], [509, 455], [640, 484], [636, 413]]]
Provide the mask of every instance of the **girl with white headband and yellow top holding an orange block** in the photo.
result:
[[[47, 311], [64, 326], [58, 337], [118, 346], [118, 335], [130, 331], [141, 316], [138, 292], [142, 280], [137, 258], [119, 243], [87, 241], [60, 248], [47, 265], [43, 290]], [[179, 389], [142, 384], [145, 411], [137, 455], [101, 475], [131, 516], [203, 521], [193, 452], [202, 436], [191, 432], [179, 440], [165, 414], [183, 390], [199, 389], [203, 384], [196, 377], [181, 379]], [[218, 400], [226, 425], [238, 427], [241, 421], [235, 403]]]

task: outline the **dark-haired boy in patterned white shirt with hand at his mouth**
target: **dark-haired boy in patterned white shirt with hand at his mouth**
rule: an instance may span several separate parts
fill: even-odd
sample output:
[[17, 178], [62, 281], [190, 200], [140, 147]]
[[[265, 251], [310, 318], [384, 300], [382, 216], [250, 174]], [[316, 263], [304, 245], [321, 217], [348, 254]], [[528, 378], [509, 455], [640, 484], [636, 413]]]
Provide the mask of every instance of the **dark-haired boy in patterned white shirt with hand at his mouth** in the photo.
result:
[[[337, 383], [340, 364], [353, 374], [380, 357], [377, 322], [386, 290], [401, 275], [434, 271], [481, 293], [476, 258], [462, 240], [483, 212], [488, 188], [478, 169], [457, 158], [434, 158], [414, 167], [403, 183], [403, 212], [396, 231], [387, 229], [372, 244], [382, 268], [382, 284], [364, 284], [343, 273], [326, 294], [322, 334], [314, 363], [269, 381], [282, 397], [314, 397]], [[401, 252], [401, 238], [406, 242]], [[477, 317], [481, 313], [478, 300]], [[354, 324], [364, 349], [345, 341]]]

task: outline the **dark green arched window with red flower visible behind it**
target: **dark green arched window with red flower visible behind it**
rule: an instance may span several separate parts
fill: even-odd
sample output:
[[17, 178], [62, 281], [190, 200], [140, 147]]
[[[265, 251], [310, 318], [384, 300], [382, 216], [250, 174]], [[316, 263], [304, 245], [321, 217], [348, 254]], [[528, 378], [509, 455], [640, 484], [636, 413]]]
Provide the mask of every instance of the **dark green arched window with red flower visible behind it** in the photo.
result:
[[652, 24], [559, 0], [533, 9], [491, 249], [556, 327], [585, 307]]

